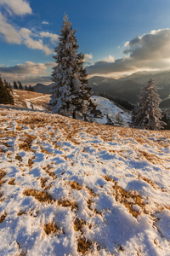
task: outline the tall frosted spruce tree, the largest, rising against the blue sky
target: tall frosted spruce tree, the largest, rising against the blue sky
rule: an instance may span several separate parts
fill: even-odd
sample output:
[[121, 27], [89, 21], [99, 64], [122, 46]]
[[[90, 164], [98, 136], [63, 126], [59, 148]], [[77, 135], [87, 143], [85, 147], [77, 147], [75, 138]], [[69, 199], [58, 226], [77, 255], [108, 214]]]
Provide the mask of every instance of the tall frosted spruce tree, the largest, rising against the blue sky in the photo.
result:
[[72, 30], [71, 22], [65, 15], [59, 45], [54, 49], [55, 66], [52, 73], [54, 84], [51, 85], [52, 96], [49, 106], [53, 113], [71, 115], [86, 114], [95, 108], [91, 101], [92, 90], [88, 87], [88, 79], [83, 68], [84, 55], [78, 54], [77, 38]]

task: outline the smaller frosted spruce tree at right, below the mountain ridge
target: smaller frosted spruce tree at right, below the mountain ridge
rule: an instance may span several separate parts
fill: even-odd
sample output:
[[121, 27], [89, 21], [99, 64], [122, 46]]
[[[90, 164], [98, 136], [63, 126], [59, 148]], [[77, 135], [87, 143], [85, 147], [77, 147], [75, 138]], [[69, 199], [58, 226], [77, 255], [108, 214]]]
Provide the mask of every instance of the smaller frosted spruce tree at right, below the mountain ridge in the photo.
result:
[[133, 109], [133, 125], [148, 130], [163, 129], [161, 121], [160, 97], [156, 93], [154, 81], [150, 79], [148, 85], [143, 88], [139, 95], [139, 103]]

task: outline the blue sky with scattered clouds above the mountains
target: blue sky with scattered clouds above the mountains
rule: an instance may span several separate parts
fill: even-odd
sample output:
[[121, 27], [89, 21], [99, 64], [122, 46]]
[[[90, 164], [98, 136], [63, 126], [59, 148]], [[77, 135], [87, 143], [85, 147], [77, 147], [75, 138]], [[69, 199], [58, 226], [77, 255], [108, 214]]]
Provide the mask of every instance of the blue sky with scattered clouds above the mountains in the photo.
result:
[[51, 84], [65, 13], [89, 77], [170, 69], [169, 0], [0, 0], [0, 74]]

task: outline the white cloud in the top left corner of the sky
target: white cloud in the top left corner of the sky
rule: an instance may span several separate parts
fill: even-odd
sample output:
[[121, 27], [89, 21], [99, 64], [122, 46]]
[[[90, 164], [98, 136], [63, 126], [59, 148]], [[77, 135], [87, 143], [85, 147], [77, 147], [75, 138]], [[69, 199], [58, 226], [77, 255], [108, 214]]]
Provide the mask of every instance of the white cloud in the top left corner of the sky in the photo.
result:
[[14, 15], [26, 15], [32, 13], [30, 4], [24, 0], [0, 0], [7, 10], [12, 11]]

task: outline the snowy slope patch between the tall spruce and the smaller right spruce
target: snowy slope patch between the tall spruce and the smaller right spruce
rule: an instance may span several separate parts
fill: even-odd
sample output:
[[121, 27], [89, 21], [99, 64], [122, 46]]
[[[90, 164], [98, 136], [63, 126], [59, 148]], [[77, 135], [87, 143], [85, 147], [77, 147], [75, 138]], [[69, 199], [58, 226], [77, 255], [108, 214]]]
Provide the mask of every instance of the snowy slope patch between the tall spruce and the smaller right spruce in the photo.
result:
[[[131, 123], [131, 114], [122, 110], [110, 100], [101, 96], [92, 96], [92, 101], [102, 113], [101, 118], [93, 119], [95, 123], [105, 125], [109, 119], [114, 125], [129, 126]], [[109, 119], [108, 119], [109, 117]]]

